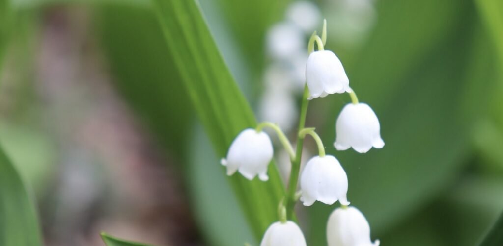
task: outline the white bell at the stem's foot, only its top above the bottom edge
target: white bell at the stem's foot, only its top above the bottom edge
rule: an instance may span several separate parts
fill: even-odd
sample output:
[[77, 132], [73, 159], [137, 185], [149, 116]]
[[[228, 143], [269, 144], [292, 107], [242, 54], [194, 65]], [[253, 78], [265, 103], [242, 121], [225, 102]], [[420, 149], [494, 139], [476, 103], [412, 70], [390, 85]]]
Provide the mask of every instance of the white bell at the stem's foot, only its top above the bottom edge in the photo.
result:
[[299, 226], [288, 220], [275, 222], [267, 228], [260, 246], [306, 246], [306, 239]]

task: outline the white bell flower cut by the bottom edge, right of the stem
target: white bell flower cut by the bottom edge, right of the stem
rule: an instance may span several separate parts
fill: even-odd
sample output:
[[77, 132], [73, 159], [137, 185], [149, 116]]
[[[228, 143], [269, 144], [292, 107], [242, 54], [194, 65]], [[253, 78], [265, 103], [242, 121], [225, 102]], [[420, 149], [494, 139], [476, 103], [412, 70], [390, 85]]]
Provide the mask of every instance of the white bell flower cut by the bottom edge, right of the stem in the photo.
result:
[[328, 246], [378, 246], [380, 243], [370, 240], [369, 222], [353, 206], [333, 210], [328, 217], [326, 235]]

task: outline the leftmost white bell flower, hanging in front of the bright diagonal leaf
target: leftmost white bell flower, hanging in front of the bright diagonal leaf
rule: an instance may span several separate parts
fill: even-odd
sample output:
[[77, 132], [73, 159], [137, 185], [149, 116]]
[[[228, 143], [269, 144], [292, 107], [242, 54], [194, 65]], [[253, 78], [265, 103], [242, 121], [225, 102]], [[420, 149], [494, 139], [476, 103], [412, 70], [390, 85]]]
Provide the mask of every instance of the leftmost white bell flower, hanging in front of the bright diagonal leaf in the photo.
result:
[[267, 166], [273, 158], [273, 144], [265, 132], [245, 129], [232, 142], [227, 159], [220, 163], [227, 166], [227, 175], [239, 171], [245, 178], [252, 180], [256, 175], [262, 181], [269, 180]]

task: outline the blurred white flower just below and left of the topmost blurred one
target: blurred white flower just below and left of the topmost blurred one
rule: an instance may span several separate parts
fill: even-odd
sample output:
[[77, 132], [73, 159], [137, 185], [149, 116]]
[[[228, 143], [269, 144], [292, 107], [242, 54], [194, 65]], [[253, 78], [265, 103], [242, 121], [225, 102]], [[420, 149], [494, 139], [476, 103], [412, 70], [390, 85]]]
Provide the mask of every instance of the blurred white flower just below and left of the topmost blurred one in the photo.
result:
[[267, 33], [267, 46], [273, 58], [287, 60], [304, 49], [304, 34], [291, 23], [279, 23]]

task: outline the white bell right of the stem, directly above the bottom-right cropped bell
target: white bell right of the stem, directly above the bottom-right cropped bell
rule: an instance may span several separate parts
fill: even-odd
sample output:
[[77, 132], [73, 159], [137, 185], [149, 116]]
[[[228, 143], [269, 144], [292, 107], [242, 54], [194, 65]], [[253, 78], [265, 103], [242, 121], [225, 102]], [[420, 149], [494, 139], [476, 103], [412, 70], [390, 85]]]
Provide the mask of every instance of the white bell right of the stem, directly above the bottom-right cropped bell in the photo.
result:
[[331, 205], [337, 200], [349, 205], [348, 176], [341, 163], [333, 156], [315, 156], [304, 167], [300, 176], [300, 201], [311, 206], [316, 200]]

